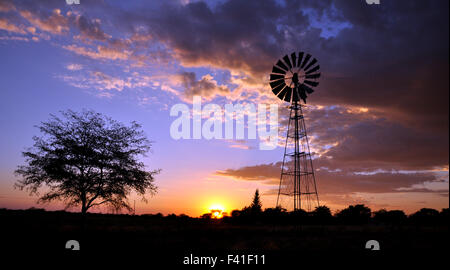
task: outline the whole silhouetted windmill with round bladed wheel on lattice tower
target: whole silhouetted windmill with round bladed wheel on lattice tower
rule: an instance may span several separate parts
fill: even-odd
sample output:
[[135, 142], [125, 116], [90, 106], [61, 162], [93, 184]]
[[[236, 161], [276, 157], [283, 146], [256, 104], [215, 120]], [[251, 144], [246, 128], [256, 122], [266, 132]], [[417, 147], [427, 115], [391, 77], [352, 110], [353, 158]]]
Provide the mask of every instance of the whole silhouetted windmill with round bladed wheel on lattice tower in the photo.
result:
[[[290, 103], [283, 164], [281, 166], [277, 207], [311, 211], [319, 206], [319, 195], [306, 134], [302, 105], [319, 85], [320, 65], [316, 58], [304, 52], [279, 59], [270, 74], [272, 92]], [[293, 146], [293, 147], [292, 147]], [[293, 151], [292, 151], [293, 148]]]

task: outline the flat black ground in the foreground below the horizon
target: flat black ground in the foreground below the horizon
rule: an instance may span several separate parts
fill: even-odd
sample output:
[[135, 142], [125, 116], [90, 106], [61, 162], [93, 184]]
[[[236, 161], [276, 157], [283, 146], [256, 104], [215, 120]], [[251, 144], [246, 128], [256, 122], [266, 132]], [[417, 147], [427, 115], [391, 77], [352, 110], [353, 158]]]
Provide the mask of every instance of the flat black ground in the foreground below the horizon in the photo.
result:
[[[183, 265], [185, 256], [265, 255], [266, 264], [294, 263], [300, 257], [343, 259], [380, 254], [414, 258], [414, 254], [449, 251], [448, 225], [267, 225], [157, 215], [89, 214], [86, 230], [76, 213], [0, 209], [2, 246], [8, 253], [101, 256], [117, 260], [145, 256], [161, 264]], [[78, 240], [80, 251], [65, 249]], [[377, 240], [380, 251], [365, 249]], [[74, 255], [76, 254], [76, 255]], [[374, 255], [376, 254], [376, 255]], [[117, 257], [115, 257], [117, 256]], [[375, 256], [375, 257], [374, 257]], [[242, 265], [241, 265], [242, 266]]]

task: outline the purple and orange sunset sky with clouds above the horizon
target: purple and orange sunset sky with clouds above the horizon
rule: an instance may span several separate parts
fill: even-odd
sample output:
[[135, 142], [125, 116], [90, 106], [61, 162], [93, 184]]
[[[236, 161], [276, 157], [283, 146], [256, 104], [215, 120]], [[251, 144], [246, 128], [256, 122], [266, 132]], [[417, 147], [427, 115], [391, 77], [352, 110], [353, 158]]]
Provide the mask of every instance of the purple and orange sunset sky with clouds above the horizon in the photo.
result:
[[[143, 158], [158, 193], [136, 212], [199, 216], [274, 207], [287, 103], [268, 84], [282, 56], [321, 66], [306, 125], [321, 204], [372, 210], [449, 206], [447, 0], [0, 0], [0, 208], [37, 205], [13, 187], [21, 151], [49, 114], [93, 109], [137, 121], [153, 143]], [[174, 140], [170, 108], [278, 104], [280, 142]], [[134, 196], [130, 198], [134, 201]], [[73, 209], [77, 210], [77, 209]], [[97, 209], [106, 212], [106, 209]]]

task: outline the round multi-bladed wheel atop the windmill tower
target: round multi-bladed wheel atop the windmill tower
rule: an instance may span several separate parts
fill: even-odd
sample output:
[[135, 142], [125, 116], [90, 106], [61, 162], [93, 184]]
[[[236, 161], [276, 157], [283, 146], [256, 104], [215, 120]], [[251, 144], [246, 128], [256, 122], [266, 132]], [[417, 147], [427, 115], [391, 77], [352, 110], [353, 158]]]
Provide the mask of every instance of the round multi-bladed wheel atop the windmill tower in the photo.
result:
[[320, 65], [317, 59], [304, 52], [285, 55], [273, 66], [270, 74], [270, 87], [279, 99], [287, 102], [306, 103], [307, 94], [314, 92], [313, 88], [319, 85]]

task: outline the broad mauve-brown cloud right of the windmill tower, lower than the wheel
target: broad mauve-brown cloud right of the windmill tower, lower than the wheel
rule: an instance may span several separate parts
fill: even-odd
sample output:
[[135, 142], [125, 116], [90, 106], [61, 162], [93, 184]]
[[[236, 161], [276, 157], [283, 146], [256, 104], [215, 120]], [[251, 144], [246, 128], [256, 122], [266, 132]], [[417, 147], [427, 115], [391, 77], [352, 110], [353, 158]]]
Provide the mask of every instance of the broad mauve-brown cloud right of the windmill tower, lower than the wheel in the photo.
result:
[[416, 129], [377, 113], [333, 107], [308, 110], [307, 124], [330, 168], [430, 170], [448, 164], [448, 136]]

